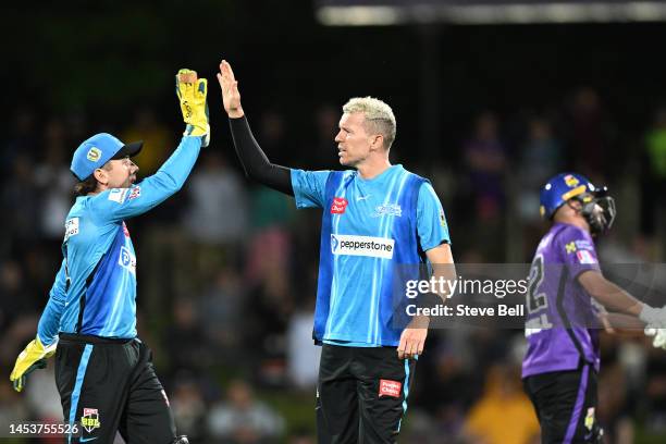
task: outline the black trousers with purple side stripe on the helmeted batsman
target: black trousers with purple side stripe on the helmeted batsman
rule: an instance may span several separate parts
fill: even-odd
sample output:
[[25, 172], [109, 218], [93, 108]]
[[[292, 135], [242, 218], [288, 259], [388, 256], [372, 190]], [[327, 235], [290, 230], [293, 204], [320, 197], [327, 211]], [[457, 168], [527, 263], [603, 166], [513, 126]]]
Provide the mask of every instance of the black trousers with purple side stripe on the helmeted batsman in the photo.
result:
[[541, 424], [542, 444], [601, 443], [596, 422], [596, 372], [579, 370], [535, 374], [523, 380]]

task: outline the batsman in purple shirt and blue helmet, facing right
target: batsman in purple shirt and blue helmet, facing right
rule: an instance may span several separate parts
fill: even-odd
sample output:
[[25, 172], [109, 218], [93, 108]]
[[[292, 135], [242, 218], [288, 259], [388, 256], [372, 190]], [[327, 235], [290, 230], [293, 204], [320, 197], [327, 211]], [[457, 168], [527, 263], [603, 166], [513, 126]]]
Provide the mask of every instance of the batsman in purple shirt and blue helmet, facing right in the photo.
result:
[[631, 316], [657, 335], [666, 308], [653, 308], [602, 274], [594, 238], [615, 219], [615, 200], [576, 173], [562, 173], [541, 189], [541, 214], [552, 222], [536, 248], [527, 294], [522, 361], [525, 390], [541, 424], [541, 442], [600, 443], [596, 379], [600, 319], [609, 311]]

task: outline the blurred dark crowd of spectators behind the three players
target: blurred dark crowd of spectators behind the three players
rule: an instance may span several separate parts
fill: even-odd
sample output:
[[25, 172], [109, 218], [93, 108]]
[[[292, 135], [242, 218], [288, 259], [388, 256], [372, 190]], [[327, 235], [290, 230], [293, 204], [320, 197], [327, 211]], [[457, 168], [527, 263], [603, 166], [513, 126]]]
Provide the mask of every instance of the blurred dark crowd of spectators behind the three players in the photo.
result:
[[[640, 133], [627, 132], [599, 91], [579, 88], [540, 111], [480, 110], [434, 157], [409, 146], [395, 111], [394, 163], [433, 182], [457, 262], [531, 261], [545, 230], [539, 188], [564, 170], [607, 184], [616, 197], [616, 226], [599, 244], [602, 261], [664, 261], [666, 108], [653, 110]], [[336, 168], [340, 110], [322, 104], [303, 115], [311, 115], [307, 132], [275, 110], [260, 110], [250, 123], [273, 161]], [[1, 137], [0, 423], [62, 418], [52, 363], [30, 375], [22, 394], [11, 390], [9, 373], [35, 335], [60, 264], [71, 153], [101, 131], [143, 139], [136, 163], [147, 176], [180, 138], [180, 126], [163, 119], [141, 108], [128, 125], [108, 125], [24, 106]], [[221, 135], [226, 126], [215, 131], [183, 190], [127, 222], [138, 261], [139, 336], [155, 351], [180, 433], [190, 442], [313, 443], [321, 214], [296, 212], [291, 198], [249, 183]], [[666, 436], [666, 353], [640, 335], [604, 334], [602, 348], [597, 418], [607, 442]], [[432, 331], [400, 441], [539, 442], [520, 382], [523, 349], [521, 331]]]

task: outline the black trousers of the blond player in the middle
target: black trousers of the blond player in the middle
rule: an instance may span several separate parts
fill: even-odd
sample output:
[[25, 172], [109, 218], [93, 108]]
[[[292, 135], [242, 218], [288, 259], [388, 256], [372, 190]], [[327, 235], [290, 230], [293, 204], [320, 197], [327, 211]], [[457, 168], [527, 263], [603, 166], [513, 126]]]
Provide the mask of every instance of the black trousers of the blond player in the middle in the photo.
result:
[[319, 444], [396, 443], [415, 359], [396, 347], [324, 344], [317, 384]]

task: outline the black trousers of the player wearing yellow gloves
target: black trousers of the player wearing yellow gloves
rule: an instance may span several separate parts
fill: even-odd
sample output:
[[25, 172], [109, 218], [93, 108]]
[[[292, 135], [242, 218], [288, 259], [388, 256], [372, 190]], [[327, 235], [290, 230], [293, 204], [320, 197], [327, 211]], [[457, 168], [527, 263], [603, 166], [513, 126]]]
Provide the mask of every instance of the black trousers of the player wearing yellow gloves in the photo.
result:
[[81, 422], [72, 443], [113, 443], [120, 431], [130, 443], [170, 444], [175, 423], [150, 349], [138, 340], [61, 334], [55, 383], [65, 422]]

